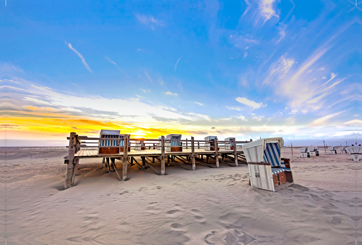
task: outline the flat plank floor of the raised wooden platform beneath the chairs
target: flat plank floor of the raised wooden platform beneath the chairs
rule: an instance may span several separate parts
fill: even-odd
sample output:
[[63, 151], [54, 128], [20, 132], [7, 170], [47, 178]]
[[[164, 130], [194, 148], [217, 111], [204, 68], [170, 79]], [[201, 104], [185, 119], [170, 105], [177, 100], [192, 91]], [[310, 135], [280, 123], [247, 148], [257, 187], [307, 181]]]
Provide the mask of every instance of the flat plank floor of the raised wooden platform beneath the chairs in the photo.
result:
[[[242, 149], [237, 150], [237, 153], [244, 153]], [[219, 154], [228, 153], [230, 155], [233, 155], [233, 150], [219, 150]], [[191, 154], [191, 149], [184, 149], [184, 151], [166, 151], [165, 155], [189, 155]], [[215, 154], [215, 151], [206, 151], [204, 149], [195, 149], [195, 154], [197, 155], [207, 155], [207, 154]], [[128, 153], [128, 156], [160, 156], [161, 150], [131, 150]], [[109, 157], [122, 157], [123, 152], [119, 154], [97, 154], [96, 150], [80, 150], [78, 151], [74, 157], [75, 158], [109, 158]]]

